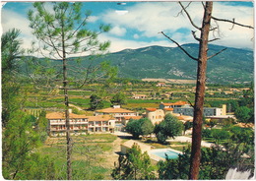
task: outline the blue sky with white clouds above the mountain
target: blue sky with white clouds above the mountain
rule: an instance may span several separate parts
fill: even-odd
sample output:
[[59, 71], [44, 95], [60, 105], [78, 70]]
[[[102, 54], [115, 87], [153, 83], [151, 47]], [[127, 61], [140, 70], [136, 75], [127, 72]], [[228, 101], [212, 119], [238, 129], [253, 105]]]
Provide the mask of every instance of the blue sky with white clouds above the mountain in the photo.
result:
[[[183, 2], [184, 5], [187, 2]], [[1, 10], [2, 31], [16, 28], [22, 31], [23, 47], [30, 48], [32, 30], [29, 27], [27, 12], [32, 9], [32, 2], [8, 2]], [[50, 9], [50, 5], [49, 5]], [[110, 40], [110, 52], [123, 49], [140, 48], [151, 45], [175, 47], [166, 35], [179, 42], [198, 43], [193, 38], [191, 30], [195, 30], [189, 20], [183, 15], [178, 15], [181, 8], [177, 2], [84, 2], [83, 11], [91, 10], [89, 29], [97, 30], [100, 24], [110, 25], [111, 30], [98, 36], [100, 41]], [[203, 9], [200, 2], [193, 2], [187, 9], [195, 24], [201, 26]], [[252, 2], [214, 2], [213, 16], [216, 18], [232, 20], [253, 26], [254, 9]], [[240, 28], [228, 23], [212, 22], [218, 26], [219, 31], [211, 33], [210, 38], [220, 37], [214, 44], [228, 47], [254, 49], [254, 30]], [[196, 32], [199, 36], [199, 31]]]

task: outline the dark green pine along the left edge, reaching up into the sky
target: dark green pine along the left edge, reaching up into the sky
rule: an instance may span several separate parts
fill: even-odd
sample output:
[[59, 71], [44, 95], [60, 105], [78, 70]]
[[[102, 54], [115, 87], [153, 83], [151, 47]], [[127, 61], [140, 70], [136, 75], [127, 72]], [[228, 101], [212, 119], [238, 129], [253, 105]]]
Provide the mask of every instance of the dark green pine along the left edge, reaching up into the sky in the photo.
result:
[[20, 91], [18, 60], [23, 54], [22, 40], [19, 39], [20, 30], [8, 30], [1, 36], [2, 63], [2, 126], [12, 119], [12, 113], [20, 108], [17, 96]]

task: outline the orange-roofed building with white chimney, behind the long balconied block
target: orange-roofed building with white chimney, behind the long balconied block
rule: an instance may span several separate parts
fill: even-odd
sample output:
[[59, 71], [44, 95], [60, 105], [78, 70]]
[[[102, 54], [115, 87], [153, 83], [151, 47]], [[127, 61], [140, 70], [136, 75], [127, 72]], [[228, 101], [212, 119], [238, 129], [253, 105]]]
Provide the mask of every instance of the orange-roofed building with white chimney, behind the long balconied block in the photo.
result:
[[120, 105], [114, 105], [113, 107], [96, 110], [95, 115], [112, 115], [116, 121], [121, 122], [125, 116], [138, 116], [138, 113], [123, 109]]

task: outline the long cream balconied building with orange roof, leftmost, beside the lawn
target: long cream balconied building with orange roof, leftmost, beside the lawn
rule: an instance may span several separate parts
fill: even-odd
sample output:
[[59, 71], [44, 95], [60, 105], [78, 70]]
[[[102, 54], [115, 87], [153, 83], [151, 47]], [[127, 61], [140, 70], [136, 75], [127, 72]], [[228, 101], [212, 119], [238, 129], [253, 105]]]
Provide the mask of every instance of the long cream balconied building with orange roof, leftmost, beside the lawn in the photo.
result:
[[[66, 134], [66, 120], [64, 112], [51, 112], [46, 114], [48, 119], [47, 131], [51, 136], [64, 136]], [[115, 119], [111, 116], [87, 116], [69, 113], [70, 131], [72, 134], [88, 132], [112, 132]]]

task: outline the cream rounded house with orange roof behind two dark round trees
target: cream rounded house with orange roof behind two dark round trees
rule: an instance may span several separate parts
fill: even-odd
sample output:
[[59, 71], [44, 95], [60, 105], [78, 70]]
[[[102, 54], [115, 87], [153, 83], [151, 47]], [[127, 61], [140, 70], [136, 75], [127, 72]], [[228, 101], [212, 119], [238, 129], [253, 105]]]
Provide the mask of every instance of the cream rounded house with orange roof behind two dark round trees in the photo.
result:
[[146, 117], [151, 120], [152, 124], [159, 124], [164, 119], [164, 111], [157, 108], [147, 108]]

